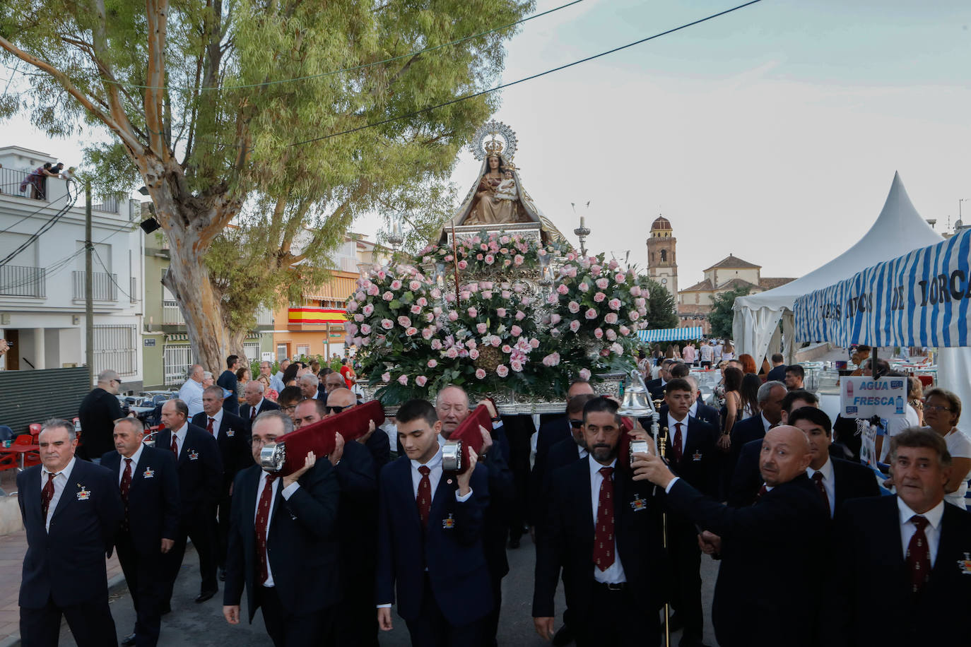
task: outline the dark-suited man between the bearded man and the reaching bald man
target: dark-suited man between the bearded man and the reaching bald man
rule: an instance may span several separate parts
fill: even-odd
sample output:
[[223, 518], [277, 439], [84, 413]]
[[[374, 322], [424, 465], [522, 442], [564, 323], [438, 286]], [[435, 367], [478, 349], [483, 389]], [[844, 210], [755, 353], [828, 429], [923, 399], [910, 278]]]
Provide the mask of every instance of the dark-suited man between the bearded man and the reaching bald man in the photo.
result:
[[[719, 430], [692, 418], [688, 413], [692, 404], [695, 404], [694, 388], [685, 379], [672, 379], [665, 387], [665, 410], [658, 424], [667, 429], [671, 469], [695, 489], [715, 498], [719, 487]], [[680, 644], [696, 647], [701, 644], [704, 631], [701, 550], [697, 529], [686, 515], [677, 512], [668, 515], [668, 553], [674, 584], [671, 606], [685, 628]]]

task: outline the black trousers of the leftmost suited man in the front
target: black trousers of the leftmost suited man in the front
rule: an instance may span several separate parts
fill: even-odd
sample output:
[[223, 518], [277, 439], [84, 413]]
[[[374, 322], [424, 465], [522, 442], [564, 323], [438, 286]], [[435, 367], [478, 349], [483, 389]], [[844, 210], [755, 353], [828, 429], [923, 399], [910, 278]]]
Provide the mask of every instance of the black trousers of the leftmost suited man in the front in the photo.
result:
[[117, 647], [115, 620], [108, 596], [74, 606], [57, 606], [53, 599], [39, 609], [20, 607], [20, 644], [23, 647], [56, 647], [61, 617], [67, 620], [78, 647]]

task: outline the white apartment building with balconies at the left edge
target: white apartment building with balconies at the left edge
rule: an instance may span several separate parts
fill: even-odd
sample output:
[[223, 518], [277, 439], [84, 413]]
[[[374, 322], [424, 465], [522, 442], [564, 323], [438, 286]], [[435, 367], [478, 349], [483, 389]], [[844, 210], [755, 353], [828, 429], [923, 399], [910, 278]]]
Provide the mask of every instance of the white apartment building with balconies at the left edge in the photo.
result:
[[[14, 344], [0, 358], [0, 370], [85, 363], [84, 187], [47, 178], [43, 197], [34, 197], [29, 185], [20, 189], [30, 172], [55, 161], [36, 150], [0, 147], [0, 337]], [[122, 390], [138, 390], [143, 381], [141, 213], [127, 198], [93, 202], [94, 372], [114, 369], [124, 380]]]

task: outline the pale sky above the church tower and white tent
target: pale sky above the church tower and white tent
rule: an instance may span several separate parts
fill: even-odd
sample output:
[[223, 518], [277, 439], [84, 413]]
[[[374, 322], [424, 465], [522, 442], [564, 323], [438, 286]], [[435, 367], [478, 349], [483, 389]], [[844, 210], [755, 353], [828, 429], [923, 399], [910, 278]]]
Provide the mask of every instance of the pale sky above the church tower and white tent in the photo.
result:
[[[526, 23], [503, 81], [734, 4], [585, 0]], [[869, 228], [894, 171], [939, 232], [971, 198], [969, 25], [971, 3], [958, 0], [764, 0], [505, 90], [494, 118], [516, 130], [520, 178], [560, 230], [572, 236], [570, 203], [590, 201], [589, 249], [629, 249], [644, 265], [663, 213], [682, 287], [728, 252], [763, 275], [799, 276]], [[23, 119], [0, 125], [0, 146], [69, 164], [83, 141], [49, 141]], [[460, 197], [478, 164], [462, 151]], [[353, 229], [378, 226], [365, 217]]]

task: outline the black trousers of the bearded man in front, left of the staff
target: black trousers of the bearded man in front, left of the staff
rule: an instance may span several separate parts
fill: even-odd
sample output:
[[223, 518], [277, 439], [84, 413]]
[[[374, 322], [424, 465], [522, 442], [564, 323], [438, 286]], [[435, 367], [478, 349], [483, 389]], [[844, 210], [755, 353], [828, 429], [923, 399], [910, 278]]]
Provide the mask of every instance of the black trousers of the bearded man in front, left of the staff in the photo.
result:
[[[590, 608], [571, 609], [570, 627], [577, 647], [658, 647], [661, 642], [656, 612], [639, 608], [626, 586], [612, 590], [593, 583]], [[583, 617], [580, 617], [580, 616]]]

